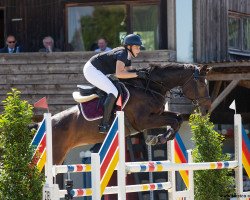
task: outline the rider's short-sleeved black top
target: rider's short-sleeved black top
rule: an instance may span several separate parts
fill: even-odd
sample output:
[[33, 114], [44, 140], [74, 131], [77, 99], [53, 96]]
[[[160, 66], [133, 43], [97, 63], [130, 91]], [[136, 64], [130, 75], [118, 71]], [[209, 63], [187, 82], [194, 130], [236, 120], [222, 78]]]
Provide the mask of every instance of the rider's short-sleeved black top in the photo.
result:
[[131, 66], [131, 60], [128, 59], [128, 51], [124, 47], [102, 52], [90, 58], [91, 64], [105, 75], [115, 73], [117, 60], [122, 61], [125, 67]]

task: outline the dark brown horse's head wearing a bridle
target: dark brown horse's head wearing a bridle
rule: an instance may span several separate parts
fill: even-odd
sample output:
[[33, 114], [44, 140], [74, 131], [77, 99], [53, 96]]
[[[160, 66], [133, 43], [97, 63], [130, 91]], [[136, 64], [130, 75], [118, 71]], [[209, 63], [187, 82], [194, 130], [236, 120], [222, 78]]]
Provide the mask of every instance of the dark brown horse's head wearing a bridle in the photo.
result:
[[183, 94], [201, 107], [202, 112], [211, 106], [211, 99], [206, 81], [207, 66], [194, 67], [192, 75], [182, 86]]

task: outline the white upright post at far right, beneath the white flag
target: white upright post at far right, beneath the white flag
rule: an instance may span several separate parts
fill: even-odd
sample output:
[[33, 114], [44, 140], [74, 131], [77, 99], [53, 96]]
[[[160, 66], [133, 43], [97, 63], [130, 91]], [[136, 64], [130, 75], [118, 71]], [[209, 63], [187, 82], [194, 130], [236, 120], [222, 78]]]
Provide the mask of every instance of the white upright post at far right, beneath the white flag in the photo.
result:
[[240, 199], [243, 194], [243, 168], [242, 168], [242, 122], [241, 115], [234, 115], [234, 151], [235, 160], [238, 161], [238, 167], [235, 169], [236, 196]]

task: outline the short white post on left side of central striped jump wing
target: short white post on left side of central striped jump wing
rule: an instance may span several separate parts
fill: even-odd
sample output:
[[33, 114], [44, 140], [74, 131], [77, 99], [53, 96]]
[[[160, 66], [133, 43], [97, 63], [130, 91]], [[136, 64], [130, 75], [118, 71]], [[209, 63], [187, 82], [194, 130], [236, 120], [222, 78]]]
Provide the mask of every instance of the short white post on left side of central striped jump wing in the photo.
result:
[[101, 199], [101, 185], [100, 185], [100, 156], [98, 153], [91, 153], [91, 187], [92, 199]]

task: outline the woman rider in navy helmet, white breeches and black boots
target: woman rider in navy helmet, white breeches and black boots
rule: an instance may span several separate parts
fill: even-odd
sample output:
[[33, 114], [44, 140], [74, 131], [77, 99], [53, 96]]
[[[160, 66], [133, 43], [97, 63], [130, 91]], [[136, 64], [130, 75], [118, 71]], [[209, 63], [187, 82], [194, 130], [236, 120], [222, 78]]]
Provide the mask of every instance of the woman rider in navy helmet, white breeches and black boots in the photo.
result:
[[89, 59], [84, 65], [83, 74], [87, 81], [107, 93], [104, 102], [104, 113], [99, 125], [99, 132], [105, 133], [109, 130], [109, 118], [112, 114], [118, 90], [108, 79], [107, 74], [114, 74], [117, 78], [145, 78], [144, 71], [129, 72], [131, 70], [131, 58], [140, 53], [142, 41], [140, 36], [129, 34], [124, 38], [123, 46], [111, 51], [99, 53]]

